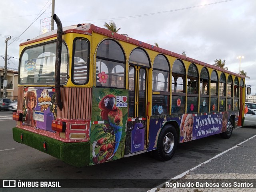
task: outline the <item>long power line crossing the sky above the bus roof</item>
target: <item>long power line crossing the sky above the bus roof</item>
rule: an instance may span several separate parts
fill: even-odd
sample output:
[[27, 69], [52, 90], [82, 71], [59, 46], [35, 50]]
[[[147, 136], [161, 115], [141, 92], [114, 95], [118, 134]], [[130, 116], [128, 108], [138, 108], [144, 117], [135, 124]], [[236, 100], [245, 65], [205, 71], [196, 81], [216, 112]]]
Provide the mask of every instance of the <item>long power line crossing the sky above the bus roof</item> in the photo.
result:
[[126, 16], [126, 17], [99, 19], [99, 20], [64, 21], [64, 22], [105, 21], [105, 20], [121, 20], [121, 19], [138, 18], [138, 17], [151, 16], [151, 15], [162, 14], [162, 13], [167, 13], [167, 12], [176, 12], [176, 11], [192, 9], [192, 8], [197, 8], [197, 7], [202, 7], [202, 6], [208, 6], [208, 5], [213, 5], [213, 4], [219, 4], [219, 3], [229, 2], [229, 1], [233, 1], [233, 0], [225, 0], [225, 1], [219, 1], [219, 2], [214, 2], [214, 3], [203, 4], [203, 5], [197, 5], [197, 6], [191, 6], [191, 7], [186, 7], [186, 8], [180, 8], [180, 9], [174, 9], [174, 10], [162, 11], [162, 12], [155, 12], [155, 13], [149, 13], [149, 14], [135, 15], [135, 16]]

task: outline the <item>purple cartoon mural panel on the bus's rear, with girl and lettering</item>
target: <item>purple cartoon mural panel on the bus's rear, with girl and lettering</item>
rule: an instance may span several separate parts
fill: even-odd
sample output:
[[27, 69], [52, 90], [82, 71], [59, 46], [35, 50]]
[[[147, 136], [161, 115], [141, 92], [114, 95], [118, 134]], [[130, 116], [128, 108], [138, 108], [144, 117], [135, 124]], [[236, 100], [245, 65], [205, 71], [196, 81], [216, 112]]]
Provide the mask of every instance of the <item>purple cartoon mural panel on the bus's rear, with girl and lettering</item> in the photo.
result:
[[54, 89], [24, 88], [23, 101], [23, 125], [52, 131], [57, 112]]

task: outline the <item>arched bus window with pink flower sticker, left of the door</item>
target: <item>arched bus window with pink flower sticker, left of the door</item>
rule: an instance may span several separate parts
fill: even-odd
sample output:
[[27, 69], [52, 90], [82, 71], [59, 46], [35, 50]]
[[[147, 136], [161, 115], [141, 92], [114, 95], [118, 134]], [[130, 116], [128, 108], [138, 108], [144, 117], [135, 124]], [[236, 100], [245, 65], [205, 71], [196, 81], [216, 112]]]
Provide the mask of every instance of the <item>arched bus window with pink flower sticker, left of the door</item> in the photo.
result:
[[125, 55], [116, 41], [106, 39], [96, 53], [96, 86], [125, 88]]

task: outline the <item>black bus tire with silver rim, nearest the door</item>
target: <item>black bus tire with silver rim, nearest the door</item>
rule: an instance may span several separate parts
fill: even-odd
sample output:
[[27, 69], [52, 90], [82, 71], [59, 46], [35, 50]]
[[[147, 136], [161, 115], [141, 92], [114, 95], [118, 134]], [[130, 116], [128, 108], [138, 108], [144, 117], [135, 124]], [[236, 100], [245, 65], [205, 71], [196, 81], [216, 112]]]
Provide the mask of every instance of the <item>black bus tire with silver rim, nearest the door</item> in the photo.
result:
[[159, 133], [154, 157], [160, 161], [172, 159], [178, 145], [178, 133], [174, 126], [165, 125]]

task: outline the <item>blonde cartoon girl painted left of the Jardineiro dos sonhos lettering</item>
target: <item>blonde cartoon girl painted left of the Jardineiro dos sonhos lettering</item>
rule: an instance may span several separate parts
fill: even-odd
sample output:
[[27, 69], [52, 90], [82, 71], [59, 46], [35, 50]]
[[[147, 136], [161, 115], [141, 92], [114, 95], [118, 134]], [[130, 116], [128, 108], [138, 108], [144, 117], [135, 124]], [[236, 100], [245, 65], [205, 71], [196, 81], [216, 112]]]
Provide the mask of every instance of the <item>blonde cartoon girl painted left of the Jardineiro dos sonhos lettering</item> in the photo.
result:
[[182, 142], [193, 140], [193, 123], [194, 116], [192, 114], [184, 114], [180, 123], [180, 136], [183, 137]]

